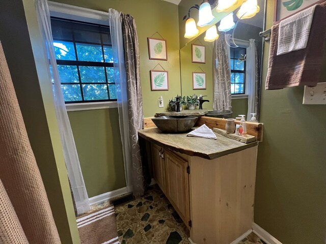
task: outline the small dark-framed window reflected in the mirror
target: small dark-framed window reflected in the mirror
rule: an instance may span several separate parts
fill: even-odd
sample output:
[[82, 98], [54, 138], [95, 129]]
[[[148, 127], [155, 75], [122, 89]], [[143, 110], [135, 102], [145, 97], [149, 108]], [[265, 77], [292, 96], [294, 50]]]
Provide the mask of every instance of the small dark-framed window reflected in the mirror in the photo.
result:
[[246, 85], [246, 48], [230, 48], [231, 94], [244, 94]]

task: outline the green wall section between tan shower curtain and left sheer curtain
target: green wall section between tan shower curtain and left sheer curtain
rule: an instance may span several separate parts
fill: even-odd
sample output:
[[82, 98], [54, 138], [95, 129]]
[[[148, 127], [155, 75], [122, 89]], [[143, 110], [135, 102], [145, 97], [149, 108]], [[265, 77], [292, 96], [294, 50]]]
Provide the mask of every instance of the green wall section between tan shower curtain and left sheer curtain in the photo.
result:
[[0, 1], [0, 40], [62, 243], [80, 243], [33, 1]]

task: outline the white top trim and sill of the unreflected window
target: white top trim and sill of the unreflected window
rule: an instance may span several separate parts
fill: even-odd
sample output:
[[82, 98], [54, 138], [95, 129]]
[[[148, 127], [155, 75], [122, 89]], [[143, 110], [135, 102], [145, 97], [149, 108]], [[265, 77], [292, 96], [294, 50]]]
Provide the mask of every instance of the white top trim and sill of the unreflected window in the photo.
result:
[[[108, 13], [76, 7], [68, 4], [48, 2], [51, 17], [65, 18], [83, 21], [93, 24], [108, 25]], [[105, 108], [117, 108], [117, 101], [89, 102], [89, 103], [66, 103], [67, 111], [94, 110]]]

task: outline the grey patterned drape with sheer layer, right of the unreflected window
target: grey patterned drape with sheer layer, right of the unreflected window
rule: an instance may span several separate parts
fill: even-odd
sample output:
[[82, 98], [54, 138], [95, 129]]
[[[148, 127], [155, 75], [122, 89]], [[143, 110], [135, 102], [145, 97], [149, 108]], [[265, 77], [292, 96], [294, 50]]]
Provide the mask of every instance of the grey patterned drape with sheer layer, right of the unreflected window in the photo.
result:
[[144, 128], [137, 27], [133, 17], [108, 10], [121, 141], [128, 192], [144, 194], [138, 130]]

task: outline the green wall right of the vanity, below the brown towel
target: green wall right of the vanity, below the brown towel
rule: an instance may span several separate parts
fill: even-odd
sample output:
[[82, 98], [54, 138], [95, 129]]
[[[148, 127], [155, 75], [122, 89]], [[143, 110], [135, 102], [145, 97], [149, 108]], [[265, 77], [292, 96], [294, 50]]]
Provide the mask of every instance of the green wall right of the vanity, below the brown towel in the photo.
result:
[[[267, 1], [267, 25], [274, 1]], [[255, 223], [283, 244], [324, 244], [326, 234], [326, 110], [303, 105], [304, 87], [265, 90], [265, 43], [258, 147]], [[324, 75], [320, 81], [325, 81]]]

